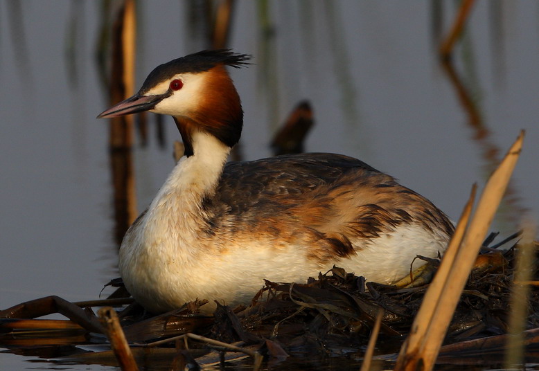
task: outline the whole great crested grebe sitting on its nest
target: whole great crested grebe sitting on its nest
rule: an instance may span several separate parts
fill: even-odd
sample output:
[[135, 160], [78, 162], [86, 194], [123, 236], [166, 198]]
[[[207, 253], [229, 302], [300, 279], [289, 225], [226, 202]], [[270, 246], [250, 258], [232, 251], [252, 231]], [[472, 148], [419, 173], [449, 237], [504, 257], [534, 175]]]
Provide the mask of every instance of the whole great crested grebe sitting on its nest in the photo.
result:
[[161, 64], [98, 116], [173, 116], [185, 146], [123, 238], [119, 269], [134, 299], [154, 313], [197, 298], [248, 303], [263, 278], [305, 282], [334, 264], [391, 283], [416, 255], [443, 253], [448, 217], [362, 161], [311, 153], [227, 163], [243, 111], [225, 66], [250, 57], [201, 51]]

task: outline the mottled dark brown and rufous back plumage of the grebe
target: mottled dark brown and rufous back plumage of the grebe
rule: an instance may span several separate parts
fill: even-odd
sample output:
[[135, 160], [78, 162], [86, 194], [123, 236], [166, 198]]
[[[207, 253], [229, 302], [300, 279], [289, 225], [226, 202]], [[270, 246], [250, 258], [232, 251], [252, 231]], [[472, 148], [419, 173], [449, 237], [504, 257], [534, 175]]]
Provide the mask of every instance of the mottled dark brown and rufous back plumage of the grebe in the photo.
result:
[[[204, 199], [203, 208], [209, 215], [209, 233], [235, 230], [236, 226], [267, 230], [277, 224], [281, 231], [302, 226], [327, 233], [338, 225], [335, 232], [339, 235], [370, 239], [411, 221], [425, 228], [441, 226], [448, 235], [453, 230], [448, 217], [420, 194], [366, 163], [340, 154], [294, 154], [227, 163], [215, 194]], [[347, 210], [353, 212], [343, 217]], [[283, 220], [294, 225], [284, 226]]]

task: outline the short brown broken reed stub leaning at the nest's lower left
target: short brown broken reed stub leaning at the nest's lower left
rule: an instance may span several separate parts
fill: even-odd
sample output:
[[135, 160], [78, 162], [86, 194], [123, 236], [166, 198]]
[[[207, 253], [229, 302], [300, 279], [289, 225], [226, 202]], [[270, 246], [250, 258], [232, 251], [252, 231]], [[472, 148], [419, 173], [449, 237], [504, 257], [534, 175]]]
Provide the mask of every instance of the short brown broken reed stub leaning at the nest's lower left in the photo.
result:
[[99, 309], [98, 315], [122, 371], [138, 371], [139, 368], [136, 366], [131, 348], [125, 340], [116, 311], [112, 307], [103, 307]]

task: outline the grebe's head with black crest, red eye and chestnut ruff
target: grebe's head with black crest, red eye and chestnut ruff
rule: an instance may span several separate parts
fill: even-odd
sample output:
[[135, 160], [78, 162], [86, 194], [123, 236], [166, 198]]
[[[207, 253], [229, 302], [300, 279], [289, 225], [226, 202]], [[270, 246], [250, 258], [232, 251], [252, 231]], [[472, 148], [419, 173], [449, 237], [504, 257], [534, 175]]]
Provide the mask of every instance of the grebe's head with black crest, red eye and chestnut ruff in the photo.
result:
[[232, 147], [240, 139], [243, 111], [225, 66], [249, 64], [251, 55], [229, 49], [201, 51], [157, 66], [134, 96], [101, 113], [113, 118], [141, 111], [173, 116], [186, 147], [193, 154], [193, 132], [207, 132]]

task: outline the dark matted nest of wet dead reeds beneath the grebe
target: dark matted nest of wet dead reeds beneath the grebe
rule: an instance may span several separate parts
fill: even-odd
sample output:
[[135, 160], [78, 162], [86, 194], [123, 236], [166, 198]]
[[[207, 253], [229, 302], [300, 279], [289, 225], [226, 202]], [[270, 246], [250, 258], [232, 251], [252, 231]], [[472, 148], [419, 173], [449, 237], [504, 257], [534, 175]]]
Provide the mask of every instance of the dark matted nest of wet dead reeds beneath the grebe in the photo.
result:
[[[506, 251], [491, 251], [478, 256], [476, 267], [468, 278], [454, 313], [445, 343], [507, 334], [515, 251], [518, 251], [518, 245]], [[434, 269], [437, 263], [437, 260], [427, 262]], [[537, 278], [539, 273], [534, 271], [533, 280]], [[118, 281], [114, 284], [121, 286]], [[423, 284], [420, 287], [398, 288], [365, 282], [362, 277], [334, 267], [326, 273], [319, 273], [317, 278], [310, 278], [304, 284], [265, 281], [265, 286], [253, 298], [251, 305], [236, 308], [218, 305], [213, 316], [198, 314], [198, 309], [204, 305], [204, 302], [200, 301], [188, 303], [178, 311], [159, 316], [149, 316], [135, 302], [118, 307], [116, 312], [129, 343], [150, 343], [153, 352], [161, 350], [170, 357], [173, 357], [173, 354], [177, 356], [179, 350], [175, 349], [173, 341], [167, 343], [163, 340], [185, 333], [241, 345], [245, 349], [256, 349], [270, 356], [319, 357], [321, 354], [362, 354], [369, 341], [375, 317], [379, 311], [383, 311], [376, 352], [390, 354], [398, 352], [402, 345], [428, 286], [429, 284]], [[113, 296], [122, 292], [120, 287]], [[44, 310], [59, 311], [69, 316], [64, 309], [60, 309], [64, 305], [61, 299], [52, 300], [52, 305], [47, 304], [51, 305], [52, 309], [40, 307], [43, 305], [40, 300], [44, 299], [0, 311], [0, 318], [29, 318], [33, 317], [32, 313], [36, 316], [42, 315]], [[110, 304], [111, 300], [118, 299], [96, 300], [87, 304], [102, 306]], [[84, 303], [69, 303], [67, 306], [69, 305], [85, 306]], [[529, 295], [528, 328], [539, 327], [538, 313], [539, 291], [533, 286]], [[85, 315], [94, 316], [89, 308], [85, 309]], [[116, 360], [110, 352], [91, 352], [90, 355], [74, 346], [78, 343], [106, 342], [105, 337], [91, 335], [99, 329], [89, 328], [84, 321], [79, 323], [77, 318], [81, 316], [69, 316], [80, 327], [73, 327], [73, 324], [53, 332], [51, 329], [46, 331], [46, 328], [39, 328], [48, 326], [39, 326], [39, 321], [44, 320], [34, 320], [30, 325], [28, 322], [26, 325], [15, 325], [17, 320], [13, 319], [0, 320], [0, 344], [8, 348], [16, 344], [19, 353], [40, 355], [39, 347], [35, 346], [35, 338], [50, 336], [42, 351], [46, 348], [50, 352], [51, 343], [55, 343], [55, 340], [58, 344], [63, 344], [55, 352], [58, 361], [114, 364]], [[73, 338], [73, 331], [77, 332], [78, 337]], [[62, 338], [62, 334], [66, 335], [66, 338]], [[69, 344], [69, 339], [72, 339], [72, 344]], [[154, 343], [155, 341], [159, 343]], [[66, 346], [67, 343], [70, 346]], [[224, 348], [219, 346], [193, 343], [188, 350], [183, 349], [181, 352], [186, 359], [197, 362], [200, 356], [210, 352], [209, 347], [217, 349], [218, 352], [224, 351]], [[136, 354], [141, 356], [140, 352]], [[147, 352], [145, 356], [148, 356]], [[103, 361], [103, 357], [107, 361]], [[48, 358], [51, 358], [50, 354]]]

